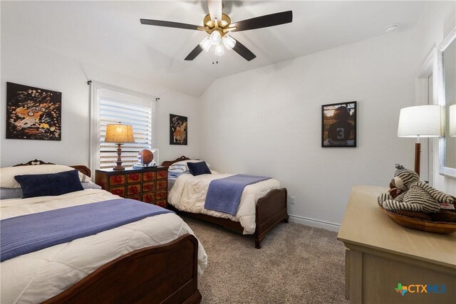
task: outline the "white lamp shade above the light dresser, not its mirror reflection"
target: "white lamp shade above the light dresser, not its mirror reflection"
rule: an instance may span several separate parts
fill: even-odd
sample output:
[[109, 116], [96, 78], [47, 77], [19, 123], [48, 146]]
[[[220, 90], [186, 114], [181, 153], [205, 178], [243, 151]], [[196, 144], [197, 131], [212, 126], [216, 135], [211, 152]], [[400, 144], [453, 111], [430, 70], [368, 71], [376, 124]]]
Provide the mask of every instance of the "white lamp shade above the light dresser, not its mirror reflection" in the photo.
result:
[[400, 109], [399, 137], [442, 136], [442, 107], [440, 105], [418, 105]]

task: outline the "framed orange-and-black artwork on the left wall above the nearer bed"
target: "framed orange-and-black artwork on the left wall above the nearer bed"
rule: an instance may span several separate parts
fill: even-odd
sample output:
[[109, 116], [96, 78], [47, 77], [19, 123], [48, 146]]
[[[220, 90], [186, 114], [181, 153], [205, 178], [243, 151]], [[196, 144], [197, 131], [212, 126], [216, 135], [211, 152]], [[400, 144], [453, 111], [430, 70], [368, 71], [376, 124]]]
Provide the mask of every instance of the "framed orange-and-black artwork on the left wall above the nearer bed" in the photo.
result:
[[6, 138], [61, 140], [62, 93], [6, 83]]

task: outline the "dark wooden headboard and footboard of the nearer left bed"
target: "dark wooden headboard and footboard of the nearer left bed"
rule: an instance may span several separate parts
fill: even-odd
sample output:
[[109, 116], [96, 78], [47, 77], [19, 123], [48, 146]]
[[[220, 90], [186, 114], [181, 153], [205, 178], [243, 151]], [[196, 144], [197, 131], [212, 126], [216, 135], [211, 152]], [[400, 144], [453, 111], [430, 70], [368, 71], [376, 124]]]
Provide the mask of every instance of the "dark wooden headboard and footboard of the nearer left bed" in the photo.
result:
[[[37, 164], [52, 163], [35, 159], [16, 166]], [[71, 167], [90, 177], [88, 167]], [[120, 256], [43, 303], [199, 303], [197, 266], [198, 241], [187, 234]]]

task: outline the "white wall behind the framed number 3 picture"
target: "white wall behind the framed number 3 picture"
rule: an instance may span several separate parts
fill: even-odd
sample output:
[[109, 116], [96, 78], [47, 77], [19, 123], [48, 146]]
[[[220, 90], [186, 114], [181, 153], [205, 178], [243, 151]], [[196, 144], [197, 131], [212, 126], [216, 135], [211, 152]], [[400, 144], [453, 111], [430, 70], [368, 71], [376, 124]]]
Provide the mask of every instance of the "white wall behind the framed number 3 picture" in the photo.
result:
[[[296, 196], [292, 219], [337, 228], [353, 185], [388, 187], [396, 163], [413, 168], [413, 140], [398, 138], [397, 124], [414, 104], [417, 36], [391, 33], [214, 81], [200, 105], [202, 159], [279, 179]], [[351, 100], [358, 147], [322, 148], [321, 105]]]

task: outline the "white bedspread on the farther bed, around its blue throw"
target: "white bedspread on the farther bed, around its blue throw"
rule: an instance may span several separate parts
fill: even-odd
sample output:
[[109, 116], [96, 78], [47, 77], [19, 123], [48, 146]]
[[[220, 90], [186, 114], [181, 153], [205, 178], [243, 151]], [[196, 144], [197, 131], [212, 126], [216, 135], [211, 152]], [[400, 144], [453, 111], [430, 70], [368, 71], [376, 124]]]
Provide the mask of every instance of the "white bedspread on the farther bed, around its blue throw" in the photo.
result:
[[168, 203], [180, 211], [207, 214], [210, 216], [239, 221], [244, 228], [244, 234], [255, 232], [255, 205], [259, 198], [265, 196], [272, 189], [280, 189], [281, 184], [276, 179], [266, 179], [262, 182], [249, 184], [242, 192], [241, 202], [236, 216], [219, 211], [204, 209], [207, 189], [213, 179], [231, 177], [234, 174], [202, 174], [194, 177], [192, 174], [182, 174], [175, 181], [168, 194]]

